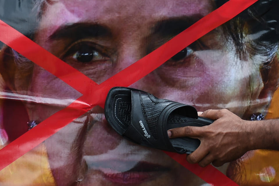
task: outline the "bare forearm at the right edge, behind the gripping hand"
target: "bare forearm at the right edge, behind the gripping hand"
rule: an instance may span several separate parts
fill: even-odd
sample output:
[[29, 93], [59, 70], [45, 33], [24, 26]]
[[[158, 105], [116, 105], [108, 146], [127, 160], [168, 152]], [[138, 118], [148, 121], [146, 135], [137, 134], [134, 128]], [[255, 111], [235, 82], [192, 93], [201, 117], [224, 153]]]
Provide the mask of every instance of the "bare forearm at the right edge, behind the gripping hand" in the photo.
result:
[[250, 149], [279, 151], [279, 119], [248, 121], [250, 125]]

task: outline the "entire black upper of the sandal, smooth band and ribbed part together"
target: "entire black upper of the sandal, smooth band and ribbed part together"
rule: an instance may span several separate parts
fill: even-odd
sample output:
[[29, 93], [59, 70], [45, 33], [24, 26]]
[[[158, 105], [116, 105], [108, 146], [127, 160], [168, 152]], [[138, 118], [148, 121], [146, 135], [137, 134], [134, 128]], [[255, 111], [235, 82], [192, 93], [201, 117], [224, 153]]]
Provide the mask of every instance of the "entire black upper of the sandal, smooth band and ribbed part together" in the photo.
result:
[[[131, 90], [132, 111], [130, 125], [123, 136], [137, 144], [156, 147], [161, 150], [181, 153], [185, 150], [174, 148], [167, 134], [167, 119], [171, 112], [179, 109], [183, 115], [197, 118], [196, 109], [190, 105], [163, 100], [152, 94]], [[154, 121], [154, 122], [152, 122]], [[156, 130], [150, 130], [150, 127]]]

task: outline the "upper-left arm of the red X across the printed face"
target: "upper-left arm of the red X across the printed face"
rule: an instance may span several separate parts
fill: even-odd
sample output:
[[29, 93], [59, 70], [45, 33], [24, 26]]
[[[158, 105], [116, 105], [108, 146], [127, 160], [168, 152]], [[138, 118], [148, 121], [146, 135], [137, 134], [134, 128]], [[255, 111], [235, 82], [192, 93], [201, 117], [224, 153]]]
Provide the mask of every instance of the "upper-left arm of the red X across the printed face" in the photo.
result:
[[43, 49], [28, 37], [25, 37], [22, 33], [1, 20], [0, 33], [0, 40], [3, 43], [37, 65], [40, 65], [51, 74], [57, 76], [78, 92], [86, 94], [88, 90], [92, 90], [92, 88], [97, 85], [97, 83], [82, 74], [80, 71], [49, 53], [47, 50]]

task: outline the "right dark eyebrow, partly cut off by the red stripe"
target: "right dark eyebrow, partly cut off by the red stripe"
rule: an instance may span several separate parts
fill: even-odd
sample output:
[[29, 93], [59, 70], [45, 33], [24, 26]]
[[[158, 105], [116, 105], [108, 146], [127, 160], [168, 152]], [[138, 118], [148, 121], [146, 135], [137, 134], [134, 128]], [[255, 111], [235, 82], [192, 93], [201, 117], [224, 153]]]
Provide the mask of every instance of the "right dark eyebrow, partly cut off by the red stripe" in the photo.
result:
[[194, 14], [161, 20], [155, 24], [153, 31], [162, 37], [175, 36], [203, 17], [201, 14]]

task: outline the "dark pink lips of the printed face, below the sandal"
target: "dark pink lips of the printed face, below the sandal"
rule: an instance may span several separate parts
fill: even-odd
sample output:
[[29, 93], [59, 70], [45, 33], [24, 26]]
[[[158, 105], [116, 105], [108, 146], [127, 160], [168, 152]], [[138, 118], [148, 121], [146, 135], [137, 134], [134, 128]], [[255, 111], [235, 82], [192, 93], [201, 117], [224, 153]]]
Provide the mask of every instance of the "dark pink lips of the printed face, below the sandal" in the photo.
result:
[[[133, 163], [133, 162], [132, 162]], [[153, 180], [165, 171], [169, 171], [168, 167], [152, 164], [148, 162], [138, 162], [135, 167], [125, 172], [102, 172], [103, 176], [112, 183], [119, 185], [140, 184], [148, 180]]]

